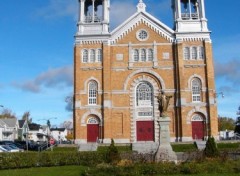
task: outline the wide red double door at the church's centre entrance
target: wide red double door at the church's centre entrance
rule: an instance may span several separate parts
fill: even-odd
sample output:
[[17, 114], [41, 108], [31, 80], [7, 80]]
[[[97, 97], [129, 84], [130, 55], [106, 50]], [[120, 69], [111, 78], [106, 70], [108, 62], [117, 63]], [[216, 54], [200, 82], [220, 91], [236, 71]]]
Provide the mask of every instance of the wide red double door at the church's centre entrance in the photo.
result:
[[154, 141], [153, 121], [137, 122], [137, 141]]

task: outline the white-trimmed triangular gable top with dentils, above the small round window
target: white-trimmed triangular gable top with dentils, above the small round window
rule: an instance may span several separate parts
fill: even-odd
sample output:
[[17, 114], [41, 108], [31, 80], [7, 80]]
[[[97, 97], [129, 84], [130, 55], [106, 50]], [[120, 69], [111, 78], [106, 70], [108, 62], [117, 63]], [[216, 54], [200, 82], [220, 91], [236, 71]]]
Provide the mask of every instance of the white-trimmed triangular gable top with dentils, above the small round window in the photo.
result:
[[137, 12], [112, 31], [112, 44], [118, 43], [123, 39], [134, 40], [133, 36], [140, 29], [146, 29], [152, 34], [155, 33], [154, 39], [157, 37], [162, 38], [165, 42], [174, 41], [174, 31], [171, 28], [147, 12]]

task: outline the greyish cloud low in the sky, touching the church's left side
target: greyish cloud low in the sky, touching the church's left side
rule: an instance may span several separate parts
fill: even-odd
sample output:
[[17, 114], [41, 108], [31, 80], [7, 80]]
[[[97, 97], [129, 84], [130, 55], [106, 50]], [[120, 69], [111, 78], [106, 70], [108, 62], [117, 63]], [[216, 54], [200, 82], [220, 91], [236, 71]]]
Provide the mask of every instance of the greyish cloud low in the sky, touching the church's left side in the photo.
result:
[[66, 66], [61, 68], [49, 69], [41, 73], [33, 80], [25, 82], [14, 82], [12, 85], [23, 91], [33, 93], [41, 92], [43, 87], [47, 88], [64, 88], [70, 87], [73, 84], [73, 68]]

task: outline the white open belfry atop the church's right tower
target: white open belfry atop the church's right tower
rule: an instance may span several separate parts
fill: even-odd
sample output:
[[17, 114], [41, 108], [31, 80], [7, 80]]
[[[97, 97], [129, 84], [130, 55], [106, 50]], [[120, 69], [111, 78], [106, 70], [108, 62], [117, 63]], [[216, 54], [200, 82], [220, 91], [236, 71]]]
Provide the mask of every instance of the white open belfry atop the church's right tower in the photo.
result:
[[176, 32], [209, 32], [204, 0], [172, 0]]

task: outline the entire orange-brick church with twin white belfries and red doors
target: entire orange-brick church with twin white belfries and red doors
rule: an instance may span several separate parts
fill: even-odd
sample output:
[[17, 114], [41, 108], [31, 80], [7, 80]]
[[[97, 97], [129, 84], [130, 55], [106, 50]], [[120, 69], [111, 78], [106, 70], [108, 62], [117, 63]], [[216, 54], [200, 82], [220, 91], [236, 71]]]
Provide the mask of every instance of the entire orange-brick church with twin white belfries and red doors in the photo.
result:
[[110, 31], [110, 0], [79, 0], [73, 96], [77, 144], [111, 139], [158, 143], [161, 92], [171, 96], [167, 116], [172, 142], [217, 137], [204, 0], [169, 1], [173, 27], [149, 14], [139, 0], [136, 12]]

